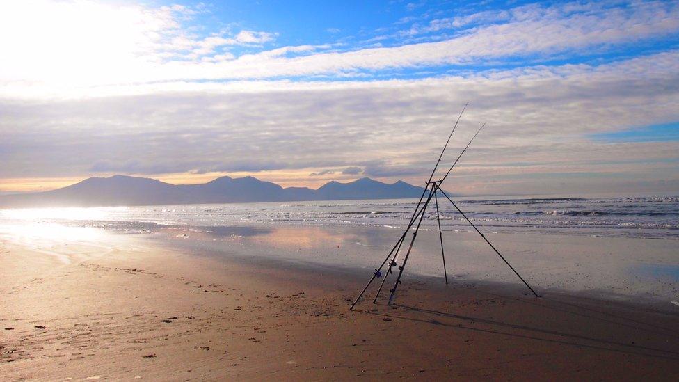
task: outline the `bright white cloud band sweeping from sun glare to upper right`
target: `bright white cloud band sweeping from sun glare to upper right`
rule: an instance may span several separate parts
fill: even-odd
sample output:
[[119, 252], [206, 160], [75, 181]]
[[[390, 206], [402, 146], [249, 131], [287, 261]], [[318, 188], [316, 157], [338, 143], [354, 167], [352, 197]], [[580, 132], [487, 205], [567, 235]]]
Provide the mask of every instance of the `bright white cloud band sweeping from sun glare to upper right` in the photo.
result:
[[[413, 32], [461, 28], [435, 42], [344, 50], [330, 45], [311, 50], [309, 45], [284, 46], [238, 56], [223, 48], [259, 46], [273, 42], [277, 33], [242, 30], [235, 35], [219, 32], [200, 37], [185, 25], [193, 12], [186, 7], [91, 1], [40, 5], [45, 12], [38, 17], [33, 13], [35, 4], [0, 5], [0, 35], [21, 36], [0, 38], [0, 95], [64, 96], [101, 93], [111, 87], [134, 92], [146, 83], [176, 81], [319, 75], [378, 78], [382, 71], [465, 68], [517, 58], [541, 61], [583, 49], [588, 54], [605, 52], [614, 45], [664, 38], [679, 31], [676, 2], [566, 3], [438, 19]], [[45, 60], [46, 56], [50, 59]]]

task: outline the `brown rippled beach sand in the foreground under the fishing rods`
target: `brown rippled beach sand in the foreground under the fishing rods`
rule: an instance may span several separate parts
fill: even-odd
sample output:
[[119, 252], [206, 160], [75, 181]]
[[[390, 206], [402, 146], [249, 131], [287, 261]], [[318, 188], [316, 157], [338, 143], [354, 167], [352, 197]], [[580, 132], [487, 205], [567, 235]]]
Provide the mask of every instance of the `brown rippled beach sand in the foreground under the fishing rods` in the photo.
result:
[[[132, 240], [132, 239], [131, 239]], [[134, 244], [0, 242], [0, 379], [679, 379], [679, 315], [575, 294]]]

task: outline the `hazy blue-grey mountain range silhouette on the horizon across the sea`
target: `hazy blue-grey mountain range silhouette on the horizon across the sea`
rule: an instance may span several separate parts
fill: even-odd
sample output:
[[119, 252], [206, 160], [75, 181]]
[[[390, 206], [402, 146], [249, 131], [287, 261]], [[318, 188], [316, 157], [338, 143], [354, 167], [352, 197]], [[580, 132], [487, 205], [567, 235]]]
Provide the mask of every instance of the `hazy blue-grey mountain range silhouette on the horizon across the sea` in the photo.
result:
[[233, 202], [283, 202], [418, 198], [422, 187], [400, 181], [386, 184], [364, 177], [329, 182], [319, 189], [283, 188], [255, 177], [218, 177], [205, 184], [169, 184], [144, 177], [90, 177], [77, 184], [40, 193], [0, 196], [0, 207], [112, 207]]

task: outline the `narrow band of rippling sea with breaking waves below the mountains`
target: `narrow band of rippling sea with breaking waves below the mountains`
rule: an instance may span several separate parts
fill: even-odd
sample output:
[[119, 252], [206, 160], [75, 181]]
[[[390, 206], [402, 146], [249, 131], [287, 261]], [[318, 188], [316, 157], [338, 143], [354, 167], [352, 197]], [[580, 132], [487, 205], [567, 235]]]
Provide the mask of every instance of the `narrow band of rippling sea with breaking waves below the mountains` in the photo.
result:
[[[220, 227], [243, 224], [405, 227], [417, 199], [260, 202], [221, 205], [166, 205], [0, 210], [1, 221], [42, 219], [118, 232], [145, 232], [157, 226]], [[679, 196], [624, 198], [453, 198], [486, 232], [568, 234], [599, 237], [679, 239]], [[437, 214], [440, 219], [437, 219]], [[451, 202], [438, 198], [427, 207], [423, 230], [472, 231]]]

